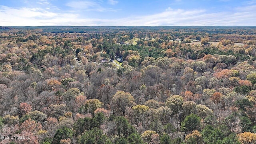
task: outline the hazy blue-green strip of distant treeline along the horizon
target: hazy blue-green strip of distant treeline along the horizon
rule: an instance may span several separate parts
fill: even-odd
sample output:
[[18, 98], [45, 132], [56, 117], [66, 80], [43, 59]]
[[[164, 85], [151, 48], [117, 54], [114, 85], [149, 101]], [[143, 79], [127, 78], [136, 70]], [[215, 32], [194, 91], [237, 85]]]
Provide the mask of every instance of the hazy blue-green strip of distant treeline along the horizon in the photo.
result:
[[197, 32], [204, 31], [210, 34], [216, 33], [234, 33], [241, 29], [255, 29], [256, 26], [11, 26], [11, 27], [0, 27], [0, 29], [17, 29], [17, 30], [35, 30], [41, 29], [43, 32], [113, 32], [113, 31], [134, 31], [134, 30], [184, 30], [184, 32]]

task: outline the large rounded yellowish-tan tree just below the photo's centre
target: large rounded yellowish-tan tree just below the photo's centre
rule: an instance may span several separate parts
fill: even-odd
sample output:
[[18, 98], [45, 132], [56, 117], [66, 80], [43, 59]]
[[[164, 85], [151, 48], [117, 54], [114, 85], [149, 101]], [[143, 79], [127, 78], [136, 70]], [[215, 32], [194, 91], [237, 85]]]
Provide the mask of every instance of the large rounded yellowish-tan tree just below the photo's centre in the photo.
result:
[[129, 92], [118, 91], [112, 97], [112, 109], [124, 116], [126, 106], [131, 106], [133, 102], [134, 98]]

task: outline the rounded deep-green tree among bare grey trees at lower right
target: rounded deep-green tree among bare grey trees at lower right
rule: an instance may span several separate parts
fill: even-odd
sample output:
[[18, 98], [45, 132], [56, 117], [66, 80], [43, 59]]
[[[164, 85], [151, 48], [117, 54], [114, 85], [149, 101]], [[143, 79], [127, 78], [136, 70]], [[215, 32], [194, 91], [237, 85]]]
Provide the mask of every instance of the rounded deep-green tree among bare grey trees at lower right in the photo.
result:
[[181, 130], [184, 132], [192, 132], [192, 130], [200, 130], [201, 118], [196, 114], [186, 116], [181, 123]]

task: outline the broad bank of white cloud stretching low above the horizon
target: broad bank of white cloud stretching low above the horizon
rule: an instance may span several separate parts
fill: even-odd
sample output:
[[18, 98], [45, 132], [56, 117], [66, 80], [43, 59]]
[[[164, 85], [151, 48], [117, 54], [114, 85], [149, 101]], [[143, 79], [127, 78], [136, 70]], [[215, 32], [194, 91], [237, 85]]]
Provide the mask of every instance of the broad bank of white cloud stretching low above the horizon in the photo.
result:
[[[73, 2], [73, 1], [72, 1]], [[78, 4], [78, 3], [76, 3]], [[94, 3], [73, 3], [88, 8]], [[256, 5], [234, 8], [235, 12], [168, 8], [163, 12], [126, 18], [82, 18], [75, 10], [66, 13], [42, 8], [0, 6], [0, 26], [256, 26]], [[98, 9], [98, 11], [100, 11]]]

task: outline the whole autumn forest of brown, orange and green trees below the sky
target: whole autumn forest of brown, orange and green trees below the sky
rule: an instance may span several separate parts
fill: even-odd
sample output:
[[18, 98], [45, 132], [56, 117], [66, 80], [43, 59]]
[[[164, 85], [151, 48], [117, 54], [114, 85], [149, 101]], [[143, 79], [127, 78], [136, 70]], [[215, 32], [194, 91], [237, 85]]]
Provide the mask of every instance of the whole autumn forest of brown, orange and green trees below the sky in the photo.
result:
[[0, 27], [0, 136], [256, 144], [256, 27]]

